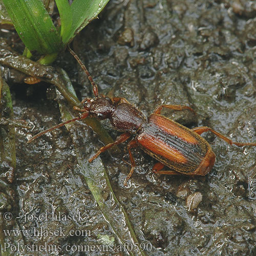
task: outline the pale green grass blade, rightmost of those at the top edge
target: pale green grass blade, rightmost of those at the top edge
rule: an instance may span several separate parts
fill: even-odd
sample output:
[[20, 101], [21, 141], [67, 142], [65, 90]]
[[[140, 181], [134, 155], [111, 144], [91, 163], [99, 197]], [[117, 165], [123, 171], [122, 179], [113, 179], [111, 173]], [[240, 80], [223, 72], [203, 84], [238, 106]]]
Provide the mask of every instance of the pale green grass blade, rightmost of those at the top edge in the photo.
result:
[[108, 2], [109, 0], [74, 0], [71, 5], [73, 22], [69, 39], [97, 18]]

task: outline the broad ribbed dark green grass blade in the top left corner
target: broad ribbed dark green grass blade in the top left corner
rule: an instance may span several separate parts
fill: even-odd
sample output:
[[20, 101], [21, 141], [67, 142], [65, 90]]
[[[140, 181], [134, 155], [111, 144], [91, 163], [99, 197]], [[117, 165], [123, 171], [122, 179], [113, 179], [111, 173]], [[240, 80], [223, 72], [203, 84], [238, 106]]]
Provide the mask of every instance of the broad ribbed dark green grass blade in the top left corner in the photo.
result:
[[62, 41], [40, 0], [3, 0], [13, 25], [25, 46], [33, 53], [59, 52]]

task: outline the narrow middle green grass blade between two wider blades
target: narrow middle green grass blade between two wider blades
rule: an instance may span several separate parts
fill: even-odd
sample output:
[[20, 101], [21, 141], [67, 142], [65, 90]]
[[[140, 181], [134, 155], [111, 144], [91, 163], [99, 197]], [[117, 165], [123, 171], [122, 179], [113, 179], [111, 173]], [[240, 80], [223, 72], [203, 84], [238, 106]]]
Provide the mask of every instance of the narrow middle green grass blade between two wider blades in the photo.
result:
[[61, 20], [60, 36], [63, 44], [66, 45], [70, 38], [70, 31], [72, 27], [71, 7], [67, 0], [55, 0], [55, 3]]

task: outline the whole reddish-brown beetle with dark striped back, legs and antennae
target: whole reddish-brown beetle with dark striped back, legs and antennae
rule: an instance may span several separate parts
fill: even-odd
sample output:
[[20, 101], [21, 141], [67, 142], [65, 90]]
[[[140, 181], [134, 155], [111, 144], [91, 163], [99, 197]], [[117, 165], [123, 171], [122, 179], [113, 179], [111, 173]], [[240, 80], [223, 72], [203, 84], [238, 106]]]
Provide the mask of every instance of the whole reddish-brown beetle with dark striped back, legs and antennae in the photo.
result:
[[[75, 110], [81, 112], [78, 117], [38, 133], [28, 142], [66, 123], [80, 120], [88, 116], [100, 120], [110, 119], [114, 129], [123, 133], [115, 142], [101, 147], [98, 152], [89, 159], [89, 162], [92, 162], [102, 152], [108, 150], [108, 148], [124, 142], [133, 135], [134, 138], [127, 144], [132, 167], [130, 173], [124, 180], [124, 185], [127, 184], [127, 181], [132, 176], [135, 167], [135, 161], [131, 152], [133, 147], [139, 146], [146, 154], [159, 161], [159, 163], [156, 163], [153, 167], [153, 171], [157, 174], [203, 176], [210, 172], [212, 166], [214, 166], [215, 154], [212, 152], [209, 143], [200, 136], [202, 133], [210, 131], [227, 143], [237, 146], [256, 146], [256, 143], [233, 142], [206, 126], [196, 127], [190, 130], [161, 115], [163, 108], [172, 110], [186, 109], [194, 112], [189, 106], [160, 105], [155, 109], [153, 114], [146, 118], [141, 111], [136, 109], [125, 98], [99, 97], [98, 88], [88, 70], [70, 48], [69, 51], [79, 62], [81, 68], [86, 72], [91, 81], [95, 98], [83, 99], [81, 109], [74, 106]], [[168, 166], [170, 170], [162, 170], [164, 166]]]

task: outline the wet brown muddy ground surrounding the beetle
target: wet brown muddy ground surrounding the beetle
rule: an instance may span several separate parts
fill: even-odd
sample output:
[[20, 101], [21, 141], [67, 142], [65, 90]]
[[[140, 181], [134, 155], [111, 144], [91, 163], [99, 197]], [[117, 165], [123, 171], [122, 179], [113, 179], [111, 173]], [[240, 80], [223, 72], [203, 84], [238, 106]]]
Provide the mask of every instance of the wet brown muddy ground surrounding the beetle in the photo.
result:
[[[125, 97], [146, 116], [160, 104], [189, 105], [197, 115], [188, 110], [165, 110], [163, 115], [189, 128], [209, 126], [234, 141], [256, 142], [255, 14], [255, 3], [243, 0], [110, 1], [72, 47], [100, 94]], [[68, 51], [53, 66], [67, 71], [80, 100], [93, 97], [90, 82]], [[61, 122], [55, 88], [44, 82], [8, 84], [15, 118], [34, 128], [16, 129], [16, 175], [2, 192], [14, 200], [5, 211], [20, 219], [4, 227], [47, 231], [7, 240], [16, 251], [18, 245], [60, 246], [58, 252], [38, 255], [126, 255], [117, 249], [93, 250], [106, 244], [117, 248], [124, 241], [132, 246], [108, 221], [118, 222], [120, 216], [102, 215], [77, 160], [76, 144], [87, 161], [103, 145], [98, 135], [77, 122], [77, 142], [62, 127], [27, 144], [31, 135]], [[102, 125], [113, 139], [120, 134], [108, 121]], [[215, 166], [202, 179], [153, 174], [156, 161], [135, 149], [137, 166], [125, 187], [130, 170], [126, 144], [101, 155], [131, 230], [141, 246], [148, 246], [145, 255], [256, 254], [256, 148], [229, 145], [211, 133], [202, 136], [216, 154]], [[62, 217], [80, 212], [83, 220], [46, 219], [53, 211]], [[39, 215], [45, 218], [35, 220]], [[87, 236], [50, 235], [61, 228], [86, 230]], [[90, 245], [90, 251], [78, 251], [78, 245]], [[35, 251], [27, 248], [23, 255]]]

